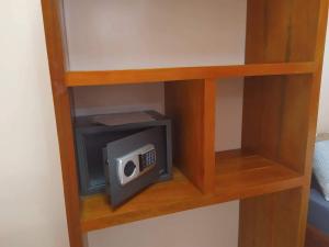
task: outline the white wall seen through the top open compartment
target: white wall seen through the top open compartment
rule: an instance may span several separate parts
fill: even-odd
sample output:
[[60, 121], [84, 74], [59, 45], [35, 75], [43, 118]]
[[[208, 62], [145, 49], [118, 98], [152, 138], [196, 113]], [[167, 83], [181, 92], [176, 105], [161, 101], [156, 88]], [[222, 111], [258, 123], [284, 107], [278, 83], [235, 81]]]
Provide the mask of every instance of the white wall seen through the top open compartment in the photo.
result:
[[71, 70], [243, 64], [247, 0], [64, 2]]

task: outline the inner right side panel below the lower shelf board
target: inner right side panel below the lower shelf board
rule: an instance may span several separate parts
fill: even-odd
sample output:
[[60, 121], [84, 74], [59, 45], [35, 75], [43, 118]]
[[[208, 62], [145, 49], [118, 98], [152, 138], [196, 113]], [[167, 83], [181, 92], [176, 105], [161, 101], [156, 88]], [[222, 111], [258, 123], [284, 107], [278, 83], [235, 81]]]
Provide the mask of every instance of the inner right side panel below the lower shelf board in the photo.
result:
[[302, 190], [298, 188], [242, 200], [239, 246], [300, 246]]

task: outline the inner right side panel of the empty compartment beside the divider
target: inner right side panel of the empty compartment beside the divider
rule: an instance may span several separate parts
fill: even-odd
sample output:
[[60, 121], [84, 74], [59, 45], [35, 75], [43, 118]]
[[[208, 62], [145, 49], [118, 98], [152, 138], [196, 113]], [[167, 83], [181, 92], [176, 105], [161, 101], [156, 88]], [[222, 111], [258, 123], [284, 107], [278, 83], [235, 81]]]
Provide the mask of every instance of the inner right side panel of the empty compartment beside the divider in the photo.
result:
[[243, 148], [304, 172], [310, 89], [308, 75], [247, 78]]

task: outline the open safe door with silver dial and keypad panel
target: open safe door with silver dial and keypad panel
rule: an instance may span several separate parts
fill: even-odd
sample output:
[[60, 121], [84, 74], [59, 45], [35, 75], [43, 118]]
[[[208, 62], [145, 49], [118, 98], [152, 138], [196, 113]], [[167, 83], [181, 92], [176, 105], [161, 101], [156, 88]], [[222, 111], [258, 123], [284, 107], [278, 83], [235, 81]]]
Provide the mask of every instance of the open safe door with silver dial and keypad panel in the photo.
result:
[[167, 166], [164, 128], [150, 127], [107, 143], [103, 149], [106, 193], [117, 207], [158, 181]]

